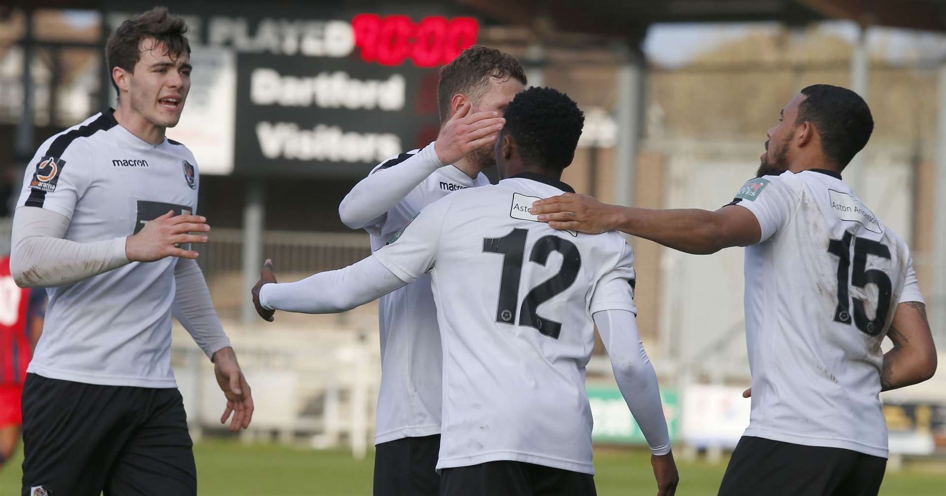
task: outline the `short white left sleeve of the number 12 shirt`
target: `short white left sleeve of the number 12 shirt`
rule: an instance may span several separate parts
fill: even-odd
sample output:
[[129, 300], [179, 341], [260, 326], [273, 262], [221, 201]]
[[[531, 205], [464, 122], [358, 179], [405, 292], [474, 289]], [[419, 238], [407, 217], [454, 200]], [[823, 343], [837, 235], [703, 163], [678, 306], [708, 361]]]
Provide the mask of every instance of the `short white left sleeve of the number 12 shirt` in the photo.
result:
[[455, 196], [447, 195], [425, 206], [387, 246], [375, 252], [377, 261], [405, 283], [427, 274], [436, 263], [441, 230]]

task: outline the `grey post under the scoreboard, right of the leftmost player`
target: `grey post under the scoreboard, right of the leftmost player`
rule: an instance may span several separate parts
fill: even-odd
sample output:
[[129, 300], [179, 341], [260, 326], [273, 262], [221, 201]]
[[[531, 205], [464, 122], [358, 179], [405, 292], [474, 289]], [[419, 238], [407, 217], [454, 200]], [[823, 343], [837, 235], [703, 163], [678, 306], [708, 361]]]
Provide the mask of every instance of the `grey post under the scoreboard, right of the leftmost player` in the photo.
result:
[[247, 185], [246, 204], [243, 207], [243, 302], [241, 316], [244, 326], [256, 321], [256, 309], [248, 297], [259, 280], [259, 269], [263, 266], [263, 222], [265, 219], [265, 191], [262, 179], [251, 179]]

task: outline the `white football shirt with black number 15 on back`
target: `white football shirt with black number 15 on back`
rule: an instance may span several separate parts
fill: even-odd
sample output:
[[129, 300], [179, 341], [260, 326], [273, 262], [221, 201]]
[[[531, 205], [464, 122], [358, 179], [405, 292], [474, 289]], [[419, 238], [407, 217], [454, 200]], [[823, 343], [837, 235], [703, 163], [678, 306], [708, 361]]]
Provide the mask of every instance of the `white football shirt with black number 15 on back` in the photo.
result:
[[881, 341], [923, 301], [906, 243], [829, 170], [750, 180], [745, 249], [752, 410], [745, 435], [887, 455]]

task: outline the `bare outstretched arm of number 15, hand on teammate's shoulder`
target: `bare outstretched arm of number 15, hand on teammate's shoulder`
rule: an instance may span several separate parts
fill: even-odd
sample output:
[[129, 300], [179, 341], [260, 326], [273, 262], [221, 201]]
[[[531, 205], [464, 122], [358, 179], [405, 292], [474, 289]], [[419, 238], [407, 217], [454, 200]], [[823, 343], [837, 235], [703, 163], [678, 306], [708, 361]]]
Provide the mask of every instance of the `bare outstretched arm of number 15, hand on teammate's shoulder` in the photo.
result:
[[555, 229], [598, 234], [622, 231], [681, 252], [709, 255], [730, 246], [759, 242], [762, 228], [755, 215], [739, 205], [716, 211], [698, 208], [651, 210], [603, 204], [594, 197], [565, 193], [539, 200], [530, 213]]

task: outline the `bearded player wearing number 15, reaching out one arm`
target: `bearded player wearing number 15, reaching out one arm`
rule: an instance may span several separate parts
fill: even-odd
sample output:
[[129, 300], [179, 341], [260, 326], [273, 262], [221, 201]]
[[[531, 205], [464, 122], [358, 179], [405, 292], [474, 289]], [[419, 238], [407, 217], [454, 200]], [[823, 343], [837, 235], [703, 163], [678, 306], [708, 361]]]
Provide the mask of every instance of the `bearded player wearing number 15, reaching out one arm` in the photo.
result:
[[[923, 297], [906, 243], [841, 180], [873, 131], [864, 99], [816, 84], [779, 121], [761, 177], [715, 212], [578, 195], [534, 212], [552, 227], [620, 229], [694, 254], [746, 246], [752, 413], [720, 494], [877, 494], [887, 456], [878, 394], [937, 367]], [[894, 347], [884, 354], [885, 336]]]

